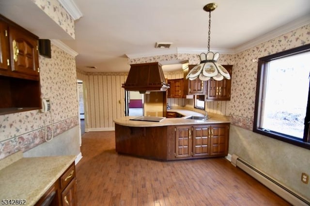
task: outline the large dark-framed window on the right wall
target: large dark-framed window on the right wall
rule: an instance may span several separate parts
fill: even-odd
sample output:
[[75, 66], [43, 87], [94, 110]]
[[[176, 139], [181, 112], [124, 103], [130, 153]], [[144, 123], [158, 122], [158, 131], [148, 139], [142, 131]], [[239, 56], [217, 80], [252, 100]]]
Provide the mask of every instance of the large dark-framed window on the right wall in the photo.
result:
[[310, 44], [259, 59], [253, 132], [310, 149]]

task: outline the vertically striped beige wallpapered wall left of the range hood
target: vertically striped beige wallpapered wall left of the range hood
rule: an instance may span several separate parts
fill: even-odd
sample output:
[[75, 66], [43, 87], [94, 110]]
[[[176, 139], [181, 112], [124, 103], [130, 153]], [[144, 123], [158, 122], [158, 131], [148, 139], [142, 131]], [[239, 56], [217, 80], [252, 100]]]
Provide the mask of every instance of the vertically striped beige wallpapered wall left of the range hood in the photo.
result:
[[124, 116], [124, 89], [127, 73], [85, 73], [77, 78], [85, 87], [85, 131], [114, 130], [114, 118]]

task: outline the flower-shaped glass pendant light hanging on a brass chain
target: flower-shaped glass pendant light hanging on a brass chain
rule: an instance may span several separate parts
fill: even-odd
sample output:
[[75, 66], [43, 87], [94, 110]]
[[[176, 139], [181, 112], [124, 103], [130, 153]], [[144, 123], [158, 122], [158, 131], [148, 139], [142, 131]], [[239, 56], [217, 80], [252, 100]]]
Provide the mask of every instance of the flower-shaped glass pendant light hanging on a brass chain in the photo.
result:
[[219, 53], [210, 52], [211, 12], [216, 8], [216, 3], [209, 3], [203, 7], [204, 11], [209, 12], [208, 53], [200, 54], [200, 64], [189, 71], [186, 79], [195, 80], [199, 78], [202, 81], [208, 81], [212, 78], [216, 81], [221, 81], [224, 78], [231, 78], [228, 71], [222, 65], [217, 63]]

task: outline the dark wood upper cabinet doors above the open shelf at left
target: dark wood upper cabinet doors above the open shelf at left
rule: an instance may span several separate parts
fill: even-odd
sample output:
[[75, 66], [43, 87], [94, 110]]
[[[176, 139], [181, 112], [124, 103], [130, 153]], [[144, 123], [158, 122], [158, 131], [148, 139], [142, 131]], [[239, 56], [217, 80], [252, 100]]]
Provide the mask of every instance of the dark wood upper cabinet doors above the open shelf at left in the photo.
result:
[[39, 80], [38, 37], [0, 16], [0, 75]]

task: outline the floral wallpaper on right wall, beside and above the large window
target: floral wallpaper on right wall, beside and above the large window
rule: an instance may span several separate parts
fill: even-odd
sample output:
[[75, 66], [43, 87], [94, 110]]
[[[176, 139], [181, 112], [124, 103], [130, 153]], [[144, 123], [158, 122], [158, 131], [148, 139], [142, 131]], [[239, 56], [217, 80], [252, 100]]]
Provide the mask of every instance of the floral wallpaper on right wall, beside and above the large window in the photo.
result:
[[258, 59], [309, 43], [310, 24], [235, 55], [230, 103], [233, 125], [248, 130], [253, 128], [257, 62], [253, 62], [252, 59]]

